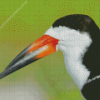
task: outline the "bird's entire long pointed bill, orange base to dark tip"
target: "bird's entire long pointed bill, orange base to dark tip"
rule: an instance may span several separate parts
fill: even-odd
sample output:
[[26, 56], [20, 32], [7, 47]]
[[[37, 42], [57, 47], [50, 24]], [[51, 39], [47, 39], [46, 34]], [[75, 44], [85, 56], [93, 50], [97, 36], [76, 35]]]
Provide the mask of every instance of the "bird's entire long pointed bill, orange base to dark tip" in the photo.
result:
[[55, 39], [49, 35], [43, 35], [12, 60], [6, 69], [0, 73], [0, 79], [40, 58], [57, 51], [56, 45], [58, 44], [58, 41], [58, 39]]

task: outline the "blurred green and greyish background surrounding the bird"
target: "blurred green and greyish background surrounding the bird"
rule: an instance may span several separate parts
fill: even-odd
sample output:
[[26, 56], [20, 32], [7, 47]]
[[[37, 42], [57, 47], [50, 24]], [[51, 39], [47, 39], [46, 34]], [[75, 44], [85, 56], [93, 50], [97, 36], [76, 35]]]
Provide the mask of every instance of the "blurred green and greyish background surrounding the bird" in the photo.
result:
[[[60, 17], [86, 14], [100, 27], [100, 0], [1, 0], [0, 72]], [[0, 100], [84, 100], [64, 65], [51, 54], [0, 80]]]

